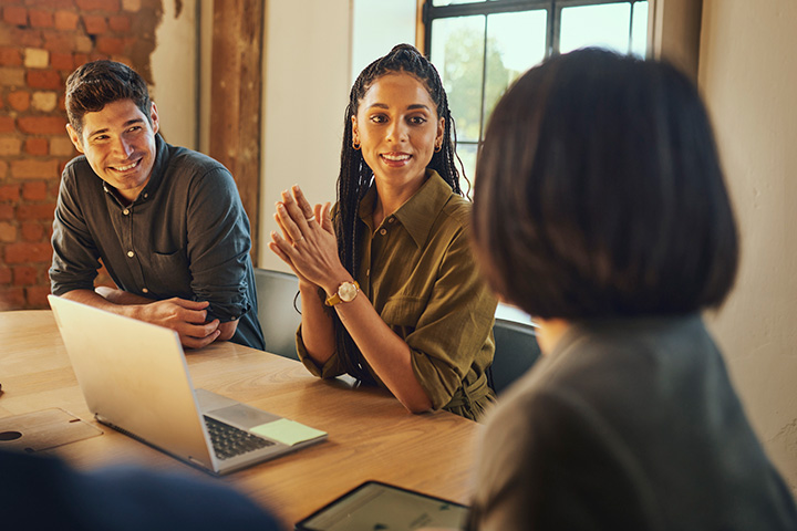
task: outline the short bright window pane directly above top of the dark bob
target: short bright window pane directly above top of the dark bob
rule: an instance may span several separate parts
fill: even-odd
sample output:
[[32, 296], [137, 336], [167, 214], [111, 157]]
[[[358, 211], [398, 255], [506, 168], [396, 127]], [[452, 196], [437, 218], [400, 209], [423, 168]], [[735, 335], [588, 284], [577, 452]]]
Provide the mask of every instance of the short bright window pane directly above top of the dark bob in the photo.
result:
[[630, 22], [631, 4], [628, 2], [565, 8], [559, 51], [567, 53], [583, 46], [601, 46], [628, 53]]

